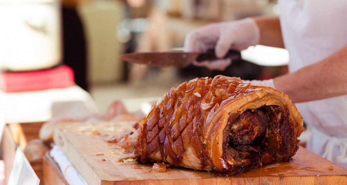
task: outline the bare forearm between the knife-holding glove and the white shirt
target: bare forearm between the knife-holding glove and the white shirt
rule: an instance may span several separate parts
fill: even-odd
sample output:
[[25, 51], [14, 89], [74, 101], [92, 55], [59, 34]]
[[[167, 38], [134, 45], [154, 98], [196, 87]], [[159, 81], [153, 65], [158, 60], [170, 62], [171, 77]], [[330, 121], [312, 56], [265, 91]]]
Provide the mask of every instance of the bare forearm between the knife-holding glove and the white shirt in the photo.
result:
[[278, 17], [254, 17], [260, 29], [260, 43], [265, 46], [284, 48]]

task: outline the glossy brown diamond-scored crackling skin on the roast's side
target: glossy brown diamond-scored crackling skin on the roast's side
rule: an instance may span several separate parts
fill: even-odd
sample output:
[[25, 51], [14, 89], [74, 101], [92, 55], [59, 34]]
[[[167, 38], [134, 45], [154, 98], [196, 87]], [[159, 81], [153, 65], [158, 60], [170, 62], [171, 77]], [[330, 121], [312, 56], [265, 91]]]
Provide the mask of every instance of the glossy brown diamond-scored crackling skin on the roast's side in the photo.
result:
[[[211, 109], [218, 108], [221, 101], [227, 98], [243, 96], [250, 85], [223, 78], [217, 78], [211, 84], [212, 80], [196, 78], [182, 83], [177, 89], [172, 88], [159, 105], [154, 105], [149, 115], [141, 120], [146, 123], [142, 130], [138, 130], [135, 154], [140, 156], [142, 162], [159, 150], [164, 162], [178, 166], [182, 153], [191, 144], [194, 155], [202, 165], [206, 165], [208, 156], [200, 138], [203, 130], [197, 128], [204, 124]], [[203, 110], [202, 103], [209, 108]]]

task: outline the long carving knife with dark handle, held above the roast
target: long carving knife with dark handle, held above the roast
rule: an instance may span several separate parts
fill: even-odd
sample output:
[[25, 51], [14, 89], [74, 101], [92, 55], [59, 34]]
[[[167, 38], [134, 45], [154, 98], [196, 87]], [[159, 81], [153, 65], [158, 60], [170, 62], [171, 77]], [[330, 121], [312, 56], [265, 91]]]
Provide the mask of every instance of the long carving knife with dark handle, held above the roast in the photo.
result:
[[[155, 67], [174, 66], [185, 68], [193, 61], [201, 62], [205, 60], [216, 60], [214, 50], [206, 52], [185, 52], [185, 51], [164, 51], [164, 52], [135, 52], [121, 54], [120, 58], [130, 63], [146, 64]], [[241, 53], [230, 50], [224, 58], [231, 60], [240, 60]]]

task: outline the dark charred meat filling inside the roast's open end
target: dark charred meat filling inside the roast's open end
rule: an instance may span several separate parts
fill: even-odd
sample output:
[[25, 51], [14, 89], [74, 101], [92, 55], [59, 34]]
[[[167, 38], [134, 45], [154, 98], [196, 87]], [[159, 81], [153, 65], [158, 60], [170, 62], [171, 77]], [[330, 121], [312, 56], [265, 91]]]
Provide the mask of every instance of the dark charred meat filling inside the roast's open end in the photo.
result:
[[296, 140], [287, 108], [263, 105], [231, 114], [223, 130], [225, 172], [217, 175], [236, 175], [273, 161], [288, 161], [298, 149]]

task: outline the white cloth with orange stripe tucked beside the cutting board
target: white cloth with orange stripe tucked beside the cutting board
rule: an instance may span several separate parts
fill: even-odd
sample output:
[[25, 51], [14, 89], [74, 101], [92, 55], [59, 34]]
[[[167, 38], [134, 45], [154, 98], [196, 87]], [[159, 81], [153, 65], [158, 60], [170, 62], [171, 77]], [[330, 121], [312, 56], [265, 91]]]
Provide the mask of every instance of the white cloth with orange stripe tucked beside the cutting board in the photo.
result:
[[88, 185], [57, 145], [53, 146], [50, 156], [58, 163], [62, 174], [69, 184]]

